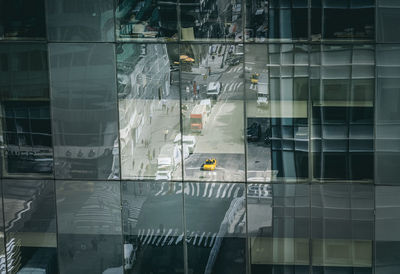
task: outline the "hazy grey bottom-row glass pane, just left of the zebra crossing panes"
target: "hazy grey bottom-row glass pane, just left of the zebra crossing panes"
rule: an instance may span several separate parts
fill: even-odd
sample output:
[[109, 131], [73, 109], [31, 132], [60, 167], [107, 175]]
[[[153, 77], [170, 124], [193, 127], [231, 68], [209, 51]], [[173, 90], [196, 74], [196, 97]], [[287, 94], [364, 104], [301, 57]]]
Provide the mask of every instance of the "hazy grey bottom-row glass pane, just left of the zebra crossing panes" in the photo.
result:
[[123, 273], [119, 182], [56, 181], [61, 274]]

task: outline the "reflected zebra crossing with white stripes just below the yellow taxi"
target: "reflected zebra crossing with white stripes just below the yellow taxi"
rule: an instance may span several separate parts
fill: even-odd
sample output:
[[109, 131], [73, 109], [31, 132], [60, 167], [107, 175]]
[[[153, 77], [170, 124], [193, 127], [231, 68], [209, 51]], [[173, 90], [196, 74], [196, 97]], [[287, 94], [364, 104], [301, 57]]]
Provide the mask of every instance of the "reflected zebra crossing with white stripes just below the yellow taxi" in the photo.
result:
[[243, 195], [244, 188], [239, 184], [223, 183], [173, 183], [163, 182], [154, 196], [184, 194], [186, 196], [212, 199], [232, 199]]

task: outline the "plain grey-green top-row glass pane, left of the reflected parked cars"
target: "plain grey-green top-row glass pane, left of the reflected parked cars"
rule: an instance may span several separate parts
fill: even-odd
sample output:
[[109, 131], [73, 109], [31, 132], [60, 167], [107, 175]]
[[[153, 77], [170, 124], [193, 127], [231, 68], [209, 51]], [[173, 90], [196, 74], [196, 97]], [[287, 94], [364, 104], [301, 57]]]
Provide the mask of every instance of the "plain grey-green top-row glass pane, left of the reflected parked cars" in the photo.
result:
[[51, 41], [114, 41], [114, 0], [47, 0]]

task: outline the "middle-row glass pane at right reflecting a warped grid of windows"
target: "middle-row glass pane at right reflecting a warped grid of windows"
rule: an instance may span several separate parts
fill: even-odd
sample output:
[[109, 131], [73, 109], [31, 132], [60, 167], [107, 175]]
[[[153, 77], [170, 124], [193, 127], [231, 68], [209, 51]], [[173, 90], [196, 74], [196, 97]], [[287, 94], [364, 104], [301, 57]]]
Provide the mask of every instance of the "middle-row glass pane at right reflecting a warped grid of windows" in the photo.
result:
[[371, 45], [312, 48], [315, 178], [373, 178], [374, 63]]

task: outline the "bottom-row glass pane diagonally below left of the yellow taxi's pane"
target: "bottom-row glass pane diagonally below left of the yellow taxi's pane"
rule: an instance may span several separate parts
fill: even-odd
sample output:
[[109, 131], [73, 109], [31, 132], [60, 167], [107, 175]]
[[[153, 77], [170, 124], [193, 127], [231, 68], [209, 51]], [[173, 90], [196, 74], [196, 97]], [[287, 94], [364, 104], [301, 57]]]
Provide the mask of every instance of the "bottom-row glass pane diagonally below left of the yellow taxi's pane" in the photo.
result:
[[[182, 186], [176, 182], [122, 182], [126, 273], [183, 273], [182, 191], [199, 195], [200, 189], [194, 184]], [[200, 207], [195, 210], [192, 216], [203, 213]], [[203, 247], [205, 242], [199, 240], [198, 244]]]

